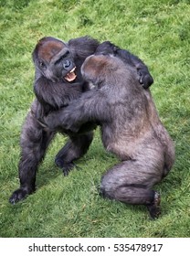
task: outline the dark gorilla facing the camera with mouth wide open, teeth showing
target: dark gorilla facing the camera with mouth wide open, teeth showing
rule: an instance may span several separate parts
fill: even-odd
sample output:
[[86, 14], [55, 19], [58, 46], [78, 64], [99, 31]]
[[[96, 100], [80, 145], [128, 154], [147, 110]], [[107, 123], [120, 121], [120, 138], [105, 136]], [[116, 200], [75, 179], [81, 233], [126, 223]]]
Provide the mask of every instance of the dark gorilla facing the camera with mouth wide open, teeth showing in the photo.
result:
[[[26, 116], [21, 133], [21, 157], [18, 165], [20, 187], [9, 199], [12, 204], [35, 191], [37, 166], [42, 161], [48, 144], [58, 132], [44, 125], [44, 118], [48, 112], [57, 112], [66, 107], [89, 89], [89, 84], [81, 76], [80, 68], [99, 45], [97, 40], [90, 37], [71, 39], [68, 43], [55, 37], [43, 37], [37, 43], [33, 51], [36, 100]], [[128, 62], [138, 69], [142, 86], [150, 86], [153, 79], [146, 66], [129, 52], [126, 51], [125, 54], [129, 58]], [[94, 127], [94, 123], [85, 123], [79, 133], [61, 130], [69, 135], [69, 142], [56, 156], [56, 164], [63, 169], [64, 175], [68, 175], [74, 165], [73, 161], [88, 151]]]

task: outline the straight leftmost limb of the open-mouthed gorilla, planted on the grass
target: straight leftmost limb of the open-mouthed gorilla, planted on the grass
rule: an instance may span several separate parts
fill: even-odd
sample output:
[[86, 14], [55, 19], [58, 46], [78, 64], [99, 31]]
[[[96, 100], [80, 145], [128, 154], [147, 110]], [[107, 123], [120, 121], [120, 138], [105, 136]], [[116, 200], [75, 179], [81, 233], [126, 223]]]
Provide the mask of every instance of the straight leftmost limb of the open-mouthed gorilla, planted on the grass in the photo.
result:
[[35, 191], [37, 166], [54, 135], [55, 133], [45, 131], [31, 112], [28, 113], [21, 133], [21, 157], [18, 165], [20, 188], [10, 197], [10, 203], [15, 204]]

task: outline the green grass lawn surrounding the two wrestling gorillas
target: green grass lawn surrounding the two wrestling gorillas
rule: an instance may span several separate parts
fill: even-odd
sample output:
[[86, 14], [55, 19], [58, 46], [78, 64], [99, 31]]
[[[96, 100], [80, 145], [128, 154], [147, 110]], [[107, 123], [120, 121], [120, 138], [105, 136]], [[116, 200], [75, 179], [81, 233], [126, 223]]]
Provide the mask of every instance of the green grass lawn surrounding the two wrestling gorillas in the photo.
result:
[[[190, 1], [0, 0], [0, 237], [189, 237]], [[34, 99], [31, 52], [44, 36], [90, 35], [127, 48], [153, 74], [153, 98], [174, 139], [172, 172], [156, 188], [163, 214], [150, 221], [139, 206], [101, 198], [100, 176], [117, 163], [97, 131], [68, 177], [54, 165], [58, 135], [37, 173], [37, 192], [12, 206], [18, 187], [19, 135]]]

